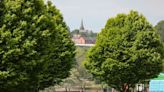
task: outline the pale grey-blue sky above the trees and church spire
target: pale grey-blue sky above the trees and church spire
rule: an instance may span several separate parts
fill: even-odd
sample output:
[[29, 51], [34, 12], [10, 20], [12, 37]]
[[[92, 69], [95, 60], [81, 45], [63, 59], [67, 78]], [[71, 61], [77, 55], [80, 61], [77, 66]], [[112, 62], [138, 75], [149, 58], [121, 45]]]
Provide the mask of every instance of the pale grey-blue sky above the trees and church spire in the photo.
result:
[[164, 20], [164, 0], [51, 0], [60, 10], [71, 30], [85, 29], [100, 32], [110, 17], [136, 10], [156, 25]]

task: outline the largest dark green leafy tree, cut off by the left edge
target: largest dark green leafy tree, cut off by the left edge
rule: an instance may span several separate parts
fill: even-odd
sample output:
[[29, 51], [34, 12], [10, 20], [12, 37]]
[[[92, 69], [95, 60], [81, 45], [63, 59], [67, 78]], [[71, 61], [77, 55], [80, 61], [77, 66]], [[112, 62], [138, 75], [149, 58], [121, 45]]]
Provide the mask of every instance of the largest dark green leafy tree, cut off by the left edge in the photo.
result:
[[43, 0], [1, 3], [0, 90], [38, 92], [68, 77], [75, 47], [59, 10]]

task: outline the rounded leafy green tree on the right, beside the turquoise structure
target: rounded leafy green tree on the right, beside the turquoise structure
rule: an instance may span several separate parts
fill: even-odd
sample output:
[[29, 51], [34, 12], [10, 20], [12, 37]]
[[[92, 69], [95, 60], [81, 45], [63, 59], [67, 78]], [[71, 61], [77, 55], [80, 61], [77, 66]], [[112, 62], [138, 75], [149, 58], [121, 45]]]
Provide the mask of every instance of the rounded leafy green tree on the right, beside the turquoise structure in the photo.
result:
[[136, 11], [110, 18], [87, 55], [85, 67], [120, 92], [156, 77], [162, 70], [159, 35]]

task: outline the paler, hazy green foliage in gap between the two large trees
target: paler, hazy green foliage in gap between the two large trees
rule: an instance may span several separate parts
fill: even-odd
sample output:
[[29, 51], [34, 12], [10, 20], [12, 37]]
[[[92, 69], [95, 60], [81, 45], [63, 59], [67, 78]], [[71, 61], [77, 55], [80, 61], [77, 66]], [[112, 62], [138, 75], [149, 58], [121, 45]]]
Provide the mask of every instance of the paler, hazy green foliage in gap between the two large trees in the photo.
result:
[[[77, 47], [76, 48], [76, 63], [74, 68], [71, 70], [71, 75], [64, 80], [63, 84], [71, 86], [81, 86], [84, 80], [92, 80], [92, 75], [88, 73], [83, 65], [83, 61], [86, 56], [86, 52], [89, 50], [88, 47]], [[82, 80], [81, 80], [82, 79]]]

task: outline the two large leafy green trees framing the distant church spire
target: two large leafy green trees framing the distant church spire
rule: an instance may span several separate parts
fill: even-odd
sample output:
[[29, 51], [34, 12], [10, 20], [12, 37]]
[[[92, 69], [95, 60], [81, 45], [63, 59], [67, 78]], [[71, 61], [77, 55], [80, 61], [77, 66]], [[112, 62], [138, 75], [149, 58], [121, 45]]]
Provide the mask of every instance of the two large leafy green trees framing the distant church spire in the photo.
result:
[[[51, 2], [0, 0], [2, 92], [38, 92], [58, 84], [70, 75], [74, 56], [69, 29]], [[96, 79], [126, 92], [156, 77], [162, 61], [157, 31], [143, 15], [131, 11], [107, 21], [85, 67]]]

